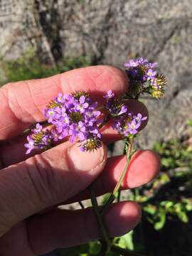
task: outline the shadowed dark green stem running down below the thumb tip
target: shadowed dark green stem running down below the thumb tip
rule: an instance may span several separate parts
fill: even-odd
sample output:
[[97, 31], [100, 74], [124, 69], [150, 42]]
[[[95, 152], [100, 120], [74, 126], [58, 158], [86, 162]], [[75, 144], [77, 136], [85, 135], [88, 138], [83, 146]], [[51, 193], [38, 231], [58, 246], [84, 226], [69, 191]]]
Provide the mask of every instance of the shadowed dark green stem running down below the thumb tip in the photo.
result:
[[93, 210], [94, 210], [95, 215], [97, 217], [97, 222], [99, 224], [102, 239], [105, 240], [106, 245], [107, 245], [106, 252], [109, 252], [110, 248], [112, 246], [112, 243], [111, 243], [111, 240], [110, 240], [109, 235], [107, 233], [107, 229], [105, 228], [105, 224], [102, 221], [102, 216], [100, 215], [100, 210], [99, 210], [98, 205], [97, 205], [97, 198], [95, 197], [95, 193], [92, 191], [91, 185], [89, 186], [89, 191], [90, 191], [90, 196], [91, 196], [92, 207], [93, 207]]

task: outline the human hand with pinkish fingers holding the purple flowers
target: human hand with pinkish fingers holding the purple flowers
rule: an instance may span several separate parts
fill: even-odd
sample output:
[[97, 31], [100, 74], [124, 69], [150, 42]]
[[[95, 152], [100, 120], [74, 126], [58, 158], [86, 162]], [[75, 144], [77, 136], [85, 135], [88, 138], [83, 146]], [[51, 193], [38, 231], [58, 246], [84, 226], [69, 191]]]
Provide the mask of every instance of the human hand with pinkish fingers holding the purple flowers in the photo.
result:
[[[63, 142], [38, 152], [41, 154], [26, 156], [26, 135], [22, 132], [30, 124], [43, 121], [43, 108], [58, 92], [88, 90], [95, 101], [101, 102], [107, 90], [122, 95], [128, 83], [121, 70], [95, 66], [1, 87], [0, 255], [41, 255], [99, 238], [92, 208], [72, 211], [53, 206], [89, 198], [86, 188], [92, 181], [97, 195], [112, 191], [126, 159], [107, 159], [105, 144], [118, 139], [118, 134], [111, 127], [102, 129], [105, 144], [93, 153]], [[142, 103], [132, 101], [130, 107], [147, 114]], [[122, 189], [149, 182], [158, 171], [158, 156], [149, 150], [138, 151]], [[105, 215], [110, 236], [127, 233], [140, 217], [137, 203], [113, 204]]]

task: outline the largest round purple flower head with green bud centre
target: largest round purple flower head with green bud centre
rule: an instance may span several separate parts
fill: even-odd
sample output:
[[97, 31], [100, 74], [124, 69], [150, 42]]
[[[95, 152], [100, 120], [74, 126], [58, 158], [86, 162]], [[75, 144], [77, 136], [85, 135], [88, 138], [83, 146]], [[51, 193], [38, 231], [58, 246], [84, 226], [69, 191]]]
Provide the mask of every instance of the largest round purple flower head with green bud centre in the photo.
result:
[[70, 142], [75, 142], [75, 139], [82, 142], [89, 137], [101, 138], [98, 129], [100, 111], [96, 110], [97, 103], [90, 103], [90, 97], [81, 95], [77, 99], [73, 95], [59, 94], [54, 103], [56, 106], [50, 105], [44, 114], [48, 122], [55, 125], [55, 141], [65, 137], [70, 137]]

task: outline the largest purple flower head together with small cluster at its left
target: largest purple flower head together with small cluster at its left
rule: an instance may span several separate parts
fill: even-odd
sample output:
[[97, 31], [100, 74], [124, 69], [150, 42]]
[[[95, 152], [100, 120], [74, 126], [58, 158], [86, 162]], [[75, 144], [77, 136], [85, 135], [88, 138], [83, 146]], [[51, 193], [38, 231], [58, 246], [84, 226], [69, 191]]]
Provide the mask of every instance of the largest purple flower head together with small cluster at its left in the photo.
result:
[[[53, 124], [52, 129], [43, 132], [41, 125], [37, 124], [36, 129], [32, 130], [33, 134], [28, 136], [26, 154], [36, 147], [43, 149], [48, 142], [58, 142], [66, 137], [72, 143], [80, 142], [82, 151], [97, 149], [101, 146], [100, 114], [97, 102], [92, 104], [86, 92], [76, 92], [73, 95], [59, 93], [44, 110], [48, 123]], [[40, 135], [41, 140], [36, 140]]]

